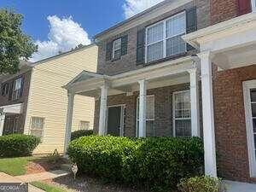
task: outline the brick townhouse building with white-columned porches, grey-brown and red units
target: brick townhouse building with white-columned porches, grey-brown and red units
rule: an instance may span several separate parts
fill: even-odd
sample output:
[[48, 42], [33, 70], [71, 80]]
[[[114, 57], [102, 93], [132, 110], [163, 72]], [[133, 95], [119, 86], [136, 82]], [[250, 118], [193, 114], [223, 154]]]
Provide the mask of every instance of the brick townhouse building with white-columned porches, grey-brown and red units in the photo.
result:
[[218, 176], [256, 181], [255, 0], [166, 0], [95, 42], [97, 73], [65, 86], [67, 134], [73, 96], [95, 97], [100, 135], [203, 137], [207, 175], [217, 150]]

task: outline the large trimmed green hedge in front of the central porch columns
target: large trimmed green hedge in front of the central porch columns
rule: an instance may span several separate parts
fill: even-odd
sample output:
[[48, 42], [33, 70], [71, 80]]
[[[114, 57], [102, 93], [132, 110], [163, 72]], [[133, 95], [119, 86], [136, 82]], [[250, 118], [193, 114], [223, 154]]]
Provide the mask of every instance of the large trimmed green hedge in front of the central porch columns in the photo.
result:
[[80, 172], [154, 191], [177, 189], [181, 178], [199, 175], [203, 166], [197, 137], [81, 137], [70, 143], [68, 155]]

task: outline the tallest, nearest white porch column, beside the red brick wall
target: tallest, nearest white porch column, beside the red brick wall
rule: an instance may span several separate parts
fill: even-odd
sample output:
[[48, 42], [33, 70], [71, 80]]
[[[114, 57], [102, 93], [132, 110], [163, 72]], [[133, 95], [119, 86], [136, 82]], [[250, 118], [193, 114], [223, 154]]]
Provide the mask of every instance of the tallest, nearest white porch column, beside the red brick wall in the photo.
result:
[[212, 55], [210, 51], [198, 54], [201, 59], [201, 94], [205, 151], [205, 174], [217, 177], [212, 94]]

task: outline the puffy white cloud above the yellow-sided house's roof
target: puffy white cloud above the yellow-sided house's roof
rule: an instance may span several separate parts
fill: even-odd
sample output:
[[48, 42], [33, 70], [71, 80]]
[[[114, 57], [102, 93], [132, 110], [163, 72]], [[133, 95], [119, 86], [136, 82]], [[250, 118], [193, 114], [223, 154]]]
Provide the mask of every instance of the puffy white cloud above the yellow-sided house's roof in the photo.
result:
[[31, 61], [39, 61], [66, 52], [79, 44], [90, 44], [88, 33], [72, 17], [59, 18], [48, 16], [49, 34], [47, 41], [36, 41], [38, 52], [32, 55]]

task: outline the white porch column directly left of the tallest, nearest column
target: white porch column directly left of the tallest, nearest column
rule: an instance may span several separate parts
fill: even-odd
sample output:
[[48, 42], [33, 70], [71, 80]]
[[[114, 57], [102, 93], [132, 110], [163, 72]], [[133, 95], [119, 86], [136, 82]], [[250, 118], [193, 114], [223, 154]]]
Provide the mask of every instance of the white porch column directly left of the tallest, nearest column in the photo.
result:
[[191, 130], [193, 137], [201, 137], [200, 134], [200, 113], [199, 113], [199, 92], [197, 68], [190, 69], [190, 103], [191, 103]]

